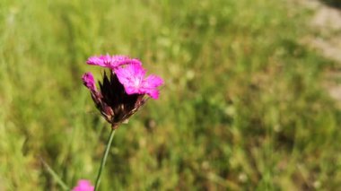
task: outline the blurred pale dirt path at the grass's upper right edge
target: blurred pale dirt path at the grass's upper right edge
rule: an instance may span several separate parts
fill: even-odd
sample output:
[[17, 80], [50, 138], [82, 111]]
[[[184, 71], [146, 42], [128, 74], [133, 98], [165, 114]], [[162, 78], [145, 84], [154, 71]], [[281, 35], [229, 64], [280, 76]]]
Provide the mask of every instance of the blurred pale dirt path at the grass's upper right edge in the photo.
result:
[[336, 69], [326, 74], [324, 85], [341, 108], [341, 9], [318, 0], [301, 1], [314, 12], [309, 24], [313, 32], [304, 42], [337, 63]]

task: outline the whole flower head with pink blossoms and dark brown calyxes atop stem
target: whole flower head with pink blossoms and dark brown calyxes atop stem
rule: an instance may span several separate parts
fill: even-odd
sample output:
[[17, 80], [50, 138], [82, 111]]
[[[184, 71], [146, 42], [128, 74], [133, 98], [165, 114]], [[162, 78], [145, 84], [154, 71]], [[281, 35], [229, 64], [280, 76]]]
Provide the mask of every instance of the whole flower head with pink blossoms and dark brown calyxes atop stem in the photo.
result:
[[128, 56], [92, 56], [87, 63], [110, 69], [109, 75], [103, 73], [99, 91], [91, 73], [83, 74], [82, 79], [91, 91], [97, 109], [112, 128], [117, 128], [144, 105], [145, 94], [153, 99], [159, 97], [157, 88], [163, 84], [162, 78], [156, 75], [144, 78], [145, 70], [137, 59]]

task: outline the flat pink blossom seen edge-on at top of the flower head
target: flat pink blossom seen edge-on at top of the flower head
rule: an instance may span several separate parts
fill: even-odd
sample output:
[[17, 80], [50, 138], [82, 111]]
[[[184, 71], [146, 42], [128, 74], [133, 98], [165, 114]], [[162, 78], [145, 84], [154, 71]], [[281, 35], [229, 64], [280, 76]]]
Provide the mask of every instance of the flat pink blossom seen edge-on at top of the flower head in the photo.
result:
[[86, 61], [88, 65], [100, 65], [102, 67], [108, 67], [110, 69], [115, 69], [120, 65], [142, 65], [141, 61], [135, 58], [130, 58], [128, 56], [114, 55], [114, 56], [91, 56]]

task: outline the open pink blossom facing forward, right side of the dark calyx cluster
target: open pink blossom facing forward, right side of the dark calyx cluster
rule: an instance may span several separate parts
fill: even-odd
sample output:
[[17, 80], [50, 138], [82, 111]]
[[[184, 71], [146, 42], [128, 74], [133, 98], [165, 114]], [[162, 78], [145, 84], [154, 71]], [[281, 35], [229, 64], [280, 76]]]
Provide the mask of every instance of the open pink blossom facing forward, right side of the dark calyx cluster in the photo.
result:
[[118, 81], [123, 84], [128, 95], [148, 94], [153, 99], [159, 98], [157, 87], [163, 84], [162, 78], [156, 75], [149, 75], [144, 78], [145, 70], [142, 65], [127, 65], [114, 70]]

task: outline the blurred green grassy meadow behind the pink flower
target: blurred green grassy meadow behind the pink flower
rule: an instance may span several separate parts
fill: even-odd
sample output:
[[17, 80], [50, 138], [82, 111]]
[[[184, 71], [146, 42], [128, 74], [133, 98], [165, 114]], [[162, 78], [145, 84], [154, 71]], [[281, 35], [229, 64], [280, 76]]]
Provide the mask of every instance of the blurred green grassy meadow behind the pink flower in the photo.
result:
[[140, 58], [165, 80], [121, 126], [101, 190], [337, 190], [337, 64], [307, 48], [287, 0], [0, 1], [0, 190], [94, 183], [109, 125], [89, 56]]

